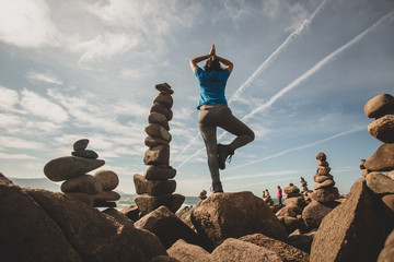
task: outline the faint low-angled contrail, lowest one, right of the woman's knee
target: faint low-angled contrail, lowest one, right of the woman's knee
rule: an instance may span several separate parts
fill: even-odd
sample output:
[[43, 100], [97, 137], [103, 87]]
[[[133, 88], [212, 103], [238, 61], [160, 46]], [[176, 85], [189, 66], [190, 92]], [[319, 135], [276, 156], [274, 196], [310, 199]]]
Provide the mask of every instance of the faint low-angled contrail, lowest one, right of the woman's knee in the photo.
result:
[[348, 130], [348, 131], [344, 131], [344, 132], [334, 134], [334, 135], [332, 135], [332, 136], [328, 136], [328, 138], [326, 138], [326, 139], [320, 140], [320, 141], [315, 141], [315, 142], [312, 142], [312, 143], [309, 143], [309, 144], [304, 144], [304, 145], [300, 145], [300, 146], [297, 146], [297, 147], [293, 147], [293, 148], [285, 150], [285, 151], [282, 151], [282, 152], [276, 153], [276, 154], [274, 154], [274, 155], [269, 155], [269, 156], [263, 157], [263, 158], [257, 159], [257, 160], [248, 162], [248, 163], [245, 163], [245, 164], [242, 164], [242, 165], [239, 165], [239, 166], [229, 168], [229, 171], [230, 171], [230, 170], [237, 169], [237, 168], [241, 168], [241, 167], [244, 167], [244, 166], [248, 166], [248, 165], [252, 165], [252, 164], [256, 164], [256, 163], [259, 163], [259, 162], [268, 160], [268, 159], [270, 159], [270, 158], [275, 158], [275, 157], [278, 157], [278, 156], [282, 156], [282, 155], [285, 155], [285, 154], [287, 154], [287, 153], [290, 153], [290, 152], [293, 152], [293, 151], [304, 150], [304, 148], [308, 148], [308, 147], [311, 147], [311, 146], [314, 146], [314, 145], [317, 145], [317, 144], [327, 142], [327, 141], [329, 141], [329, 140], [333, 140], [333, 139], [336, 139], [336, 138], [339, 138], [339, 136], [344, 136], [344, 135], [346, 135], [346, 134], [356, 133], [356, 132], [359, 132], [359, 131], [362, 131], [362, 130], [366, 130], [366, 129], [367, 129], [367, 128], [366, 128], [364, 126], [360, 126], [360, 127], [350, 129], [350, 130]]

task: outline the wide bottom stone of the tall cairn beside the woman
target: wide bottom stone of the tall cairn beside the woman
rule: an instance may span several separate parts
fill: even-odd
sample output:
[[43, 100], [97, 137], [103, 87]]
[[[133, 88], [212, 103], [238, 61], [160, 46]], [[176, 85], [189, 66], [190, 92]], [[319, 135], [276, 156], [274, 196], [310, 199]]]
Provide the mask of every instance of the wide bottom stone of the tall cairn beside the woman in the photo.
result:
[[161, 205], [165, 205], [171, 212], [176, 213], [184, 201], [185, 196], [182, 194], [139, 194], [135, 198], [135, 202], [141, 214], [148, 214]]

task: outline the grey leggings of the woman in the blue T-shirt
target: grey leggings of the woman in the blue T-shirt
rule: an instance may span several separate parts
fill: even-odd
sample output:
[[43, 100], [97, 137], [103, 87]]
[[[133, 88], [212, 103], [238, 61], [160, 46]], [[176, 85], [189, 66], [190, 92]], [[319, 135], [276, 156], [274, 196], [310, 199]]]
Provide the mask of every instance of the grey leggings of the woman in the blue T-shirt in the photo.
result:
[[254, 132], [231, 112], [225, 104], [204, 105], [199, 109], [198, 127], [206, 144], [208, 167], [212, 182], [220, 182], [217, 127], [236, 135], [230, 143], [235, 151], [254, 140]]

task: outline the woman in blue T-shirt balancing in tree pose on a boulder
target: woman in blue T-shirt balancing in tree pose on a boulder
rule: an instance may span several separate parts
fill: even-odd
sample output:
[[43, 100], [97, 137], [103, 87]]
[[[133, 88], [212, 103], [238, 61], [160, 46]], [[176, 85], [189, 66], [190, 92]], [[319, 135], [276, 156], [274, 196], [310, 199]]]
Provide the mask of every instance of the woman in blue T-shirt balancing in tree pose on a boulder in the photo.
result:
[[[207, 62], [201, 69], [197, 63], [204, 60]], [[224, 68], [221, 67], [221, 63]], [[224, 90], [227, 80], [233, 70], [233, 63], [217, 56], [215, 45], [212, 45], [208, 55], [190, 60], [190, 68], [197, 76], [200, 87], [197, 106], [199, 109], [198, 127], [207, 148], [208, 167], [212, 178], [211, 190], [215, 193], [223, 192], [219, 168], [224, 169], [228, 157], [230, 162], [236, 148], [254, 140], [254, 132], [235, 118], [227, 105]], [[218, 144], [217, 127], [236, 138], [228, 145]]]

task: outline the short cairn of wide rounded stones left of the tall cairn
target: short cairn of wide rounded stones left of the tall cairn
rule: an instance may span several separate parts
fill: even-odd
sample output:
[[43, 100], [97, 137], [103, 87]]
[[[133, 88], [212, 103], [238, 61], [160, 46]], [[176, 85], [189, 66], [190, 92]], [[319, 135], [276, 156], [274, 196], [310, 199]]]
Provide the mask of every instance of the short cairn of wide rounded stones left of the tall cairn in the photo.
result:
[[116, 206], [114, 201], [120, 195], [113, 191], [119, 183], [118, 176], [112, 170], [100, 170], [93, 176], [88, 172], [103, 166], [94, 151], [86, 150], [88, 139], [73, 144], [72, 156], [51, 159], [44, 167], [44, 174], [51, 181], [65, 181], [61, 191], [69, 198], [78, 199], [95, 207]]

